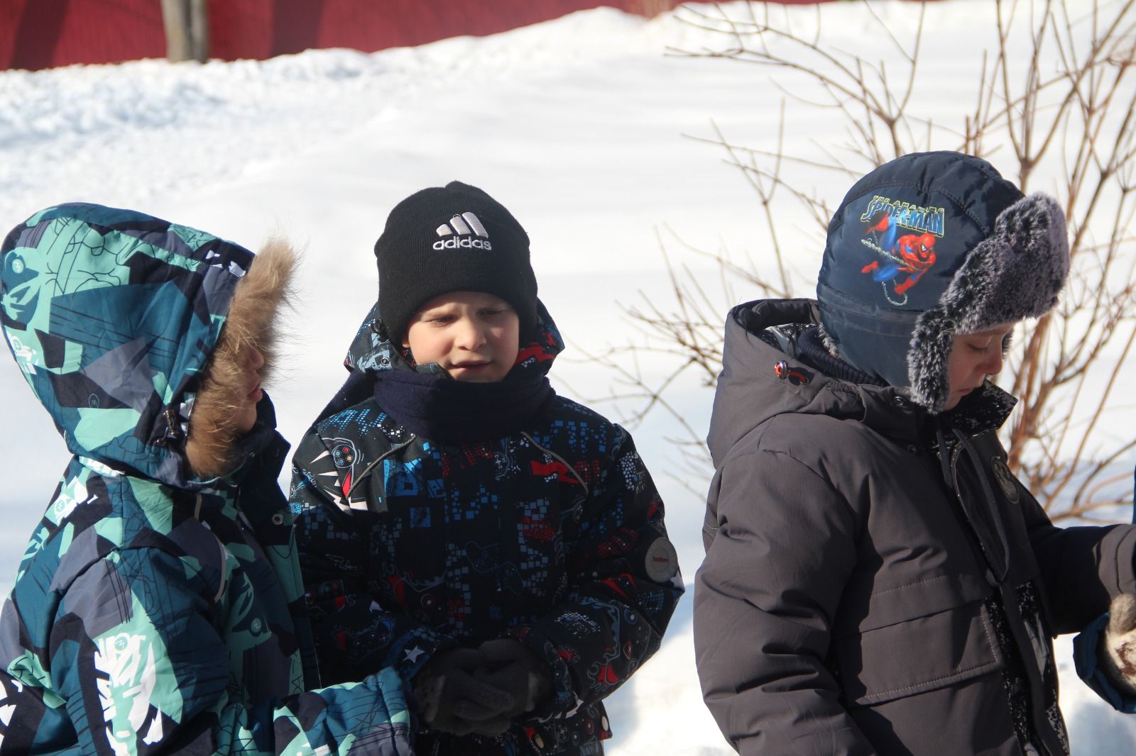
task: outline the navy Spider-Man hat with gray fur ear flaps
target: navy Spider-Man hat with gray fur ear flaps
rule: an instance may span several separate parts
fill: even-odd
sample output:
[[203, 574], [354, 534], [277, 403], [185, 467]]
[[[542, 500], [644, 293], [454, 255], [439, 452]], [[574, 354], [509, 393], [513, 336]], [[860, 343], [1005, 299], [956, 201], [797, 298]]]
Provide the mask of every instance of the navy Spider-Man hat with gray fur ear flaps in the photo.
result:
[[905, 154], [849, 191], [817, 280], [825, 341], [933, 412], [955, 334], [1045, 314], [1069, 271], [1064, 213], [985, 160]]

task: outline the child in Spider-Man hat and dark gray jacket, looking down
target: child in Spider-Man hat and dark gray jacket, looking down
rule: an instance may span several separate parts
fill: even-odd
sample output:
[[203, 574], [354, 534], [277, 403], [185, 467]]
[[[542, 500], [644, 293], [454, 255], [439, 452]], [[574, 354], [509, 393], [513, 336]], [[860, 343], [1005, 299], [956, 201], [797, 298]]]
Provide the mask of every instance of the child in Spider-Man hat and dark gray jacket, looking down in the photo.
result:
[[909, 154], [845, 195], [816, 301], [730, 311], [694, 641], [742, 754], [1068, 754], [1051, 637], [1113, 599], [1087, 658], [1136, 708], [1136, 527], [1053, 526], [997, 437], [1068, 270], [1052, 198]]

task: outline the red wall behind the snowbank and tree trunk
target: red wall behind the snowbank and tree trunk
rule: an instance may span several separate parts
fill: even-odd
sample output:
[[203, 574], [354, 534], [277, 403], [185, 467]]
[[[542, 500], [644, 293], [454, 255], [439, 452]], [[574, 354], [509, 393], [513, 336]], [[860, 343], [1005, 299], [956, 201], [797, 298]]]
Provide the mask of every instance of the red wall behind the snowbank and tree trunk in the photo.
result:
[[[701, 0], [709, 1], [709, 0]], [[808, 3], [818, 0], [777, 0]], [[824, 1], [824, 0], [819, 0]], [[209, 0], [210, 57], [308, 48], [365, 52], [494, 34], [598, 6], [649, 14], [679, 0]], [[0, 0], [0, 69], [162, 58], [159, 0]]]

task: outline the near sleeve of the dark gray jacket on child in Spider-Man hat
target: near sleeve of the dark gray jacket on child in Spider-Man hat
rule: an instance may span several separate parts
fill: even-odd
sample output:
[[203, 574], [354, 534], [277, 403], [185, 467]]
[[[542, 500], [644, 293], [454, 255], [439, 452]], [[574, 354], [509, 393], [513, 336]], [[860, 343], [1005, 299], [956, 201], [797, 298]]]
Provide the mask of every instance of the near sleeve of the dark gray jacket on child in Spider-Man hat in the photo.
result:
[[709, 506], [718, 532], [695, 578], [702, 696], [743, 756], [875, 754], [825, 664], [857, 561], [844, 496], [787, 454], [728, 459]]

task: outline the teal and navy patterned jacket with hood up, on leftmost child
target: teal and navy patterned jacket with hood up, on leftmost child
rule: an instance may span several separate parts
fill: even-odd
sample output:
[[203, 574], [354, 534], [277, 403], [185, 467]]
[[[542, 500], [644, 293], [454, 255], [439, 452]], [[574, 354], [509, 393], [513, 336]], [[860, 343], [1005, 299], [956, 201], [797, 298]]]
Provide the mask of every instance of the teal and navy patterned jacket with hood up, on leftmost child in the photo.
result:
[[0, 261], [5, 336], [75, 454], [0, 613], [0, 753], [410, 754], [393, 671], [314, 690], [269, 402], [229, 450], [237, 472], [185, 461], [252, 254], [67, 204]]

